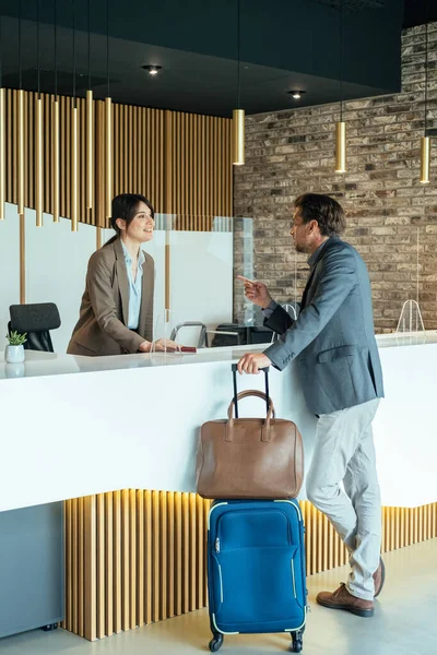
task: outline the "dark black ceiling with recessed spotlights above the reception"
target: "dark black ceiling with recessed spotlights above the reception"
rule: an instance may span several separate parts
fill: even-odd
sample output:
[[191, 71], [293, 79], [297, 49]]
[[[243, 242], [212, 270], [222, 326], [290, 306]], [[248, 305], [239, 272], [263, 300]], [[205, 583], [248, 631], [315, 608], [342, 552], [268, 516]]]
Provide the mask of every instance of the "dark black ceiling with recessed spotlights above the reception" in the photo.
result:
[[[54, 9], [39, 0], [40, 90], [54, 91]], [[76, 92], [88, 84], [88, 0], [75, 0]], [[91, 74], [107, 93], [107, 0], [91, 2]], [[240, 0], [240, 105], [248, 114], [400, 88], [400, 34], [423, 22], [420, 0]], [[36, 90], [36, 4], [22, 0], [22, 85]], [[1, 3], [3, 84], [19, 86], [17, 8]], [[428, 0], [437, 14], [437, 1]], [[343, 67], [340, 28], [343, 7]], [[428, 7], [428, 10], [429, 10]], [[72, 2], [57, 0], [58, 88], [72, 93]], [[437, 20], [437, 15], [435, 16]], [[109, 0], [115, 102], [229, 116], [237, 98], [237, 0]], [[141, 67], [162, 66], [151, 78]], [[306, 91], [298, 102], [286, 92]]]

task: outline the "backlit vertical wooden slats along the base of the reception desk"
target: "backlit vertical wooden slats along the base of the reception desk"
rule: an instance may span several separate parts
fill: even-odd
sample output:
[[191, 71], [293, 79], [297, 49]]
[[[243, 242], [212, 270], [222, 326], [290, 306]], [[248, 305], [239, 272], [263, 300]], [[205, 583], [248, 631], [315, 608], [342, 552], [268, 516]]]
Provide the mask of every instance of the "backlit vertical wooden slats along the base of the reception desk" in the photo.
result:
[[[66, 621], [88, 640], [205, 607], [211, 501], [196, 493], [123, 489], [66, 502]], [[347, 563], [329, 521], [310, 502], [307, 574]], [[437, 536], [437, 503], [383, 509], [382, 551]]]

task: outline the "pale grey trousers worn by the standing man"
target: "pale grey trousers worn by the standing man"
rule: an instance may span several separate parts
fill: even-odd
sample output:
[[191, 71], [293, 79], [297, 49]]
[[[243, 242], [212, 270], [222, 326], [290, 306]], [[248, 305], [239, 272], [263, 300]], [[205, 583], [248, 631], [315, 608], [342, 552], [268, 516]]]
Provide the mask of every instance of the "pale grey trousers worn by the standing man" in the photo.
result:
[[[307, 496], [328, 516], [350, 552], [346, 587], [373, 600], [373, 574], [381, 547], [381, 500], [371, 421], [379, 398], [332, 414], [317, 424]], [[344, 491], [341, 487], [343, 481]]]

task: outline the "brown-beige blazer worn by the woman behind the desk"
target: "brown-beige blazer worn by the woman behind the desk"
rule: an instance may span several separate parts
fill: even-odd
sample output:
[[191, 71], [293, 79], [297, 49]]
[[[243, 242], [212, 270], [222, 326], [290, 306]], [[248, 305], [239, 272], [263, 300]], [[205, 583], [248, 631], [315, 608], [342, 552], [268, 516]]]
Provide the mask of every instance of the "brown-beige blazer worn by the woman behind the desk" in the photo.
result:
[[67, 353], [71, 355], [122, 355], [137, 353], [143, 341], [153, 341], [154, 262], [144, 253], [138, 332], [127, 327], [129, 282], [120, 239], [90, 258], [79, 321]]

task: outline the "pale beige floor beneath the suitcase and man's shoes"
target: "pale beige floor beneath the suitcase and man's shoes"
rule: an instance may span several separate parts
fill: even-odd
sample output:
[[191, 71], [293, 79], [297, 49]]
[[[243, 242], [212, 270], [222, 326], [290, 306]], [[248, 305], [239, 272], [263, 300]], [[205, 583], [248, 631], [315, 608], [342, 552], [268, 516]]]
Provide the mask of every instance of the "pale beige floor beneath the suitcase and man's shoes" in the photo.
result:
[[[307, 655], [436, 655], [437, 539], [385, 557], [387, 582], [373, 619], [319, 607], [320, 590], [333, 590], [346, 569], [308, 579], [311, 614], [304, 639]], [[139, 628], [94, 643], [63, 630], [28, 632], [0, 640], [0, 655], [194, 655], [208, 652], [206, 610]], [[223, 655], [286, 652], [284, 634], [227, 636]]]

